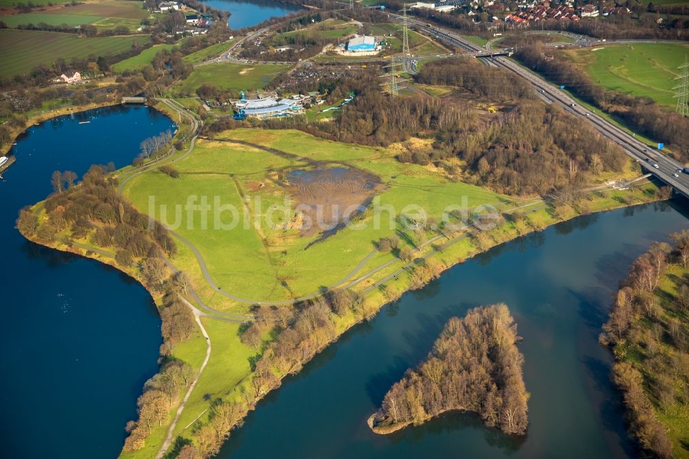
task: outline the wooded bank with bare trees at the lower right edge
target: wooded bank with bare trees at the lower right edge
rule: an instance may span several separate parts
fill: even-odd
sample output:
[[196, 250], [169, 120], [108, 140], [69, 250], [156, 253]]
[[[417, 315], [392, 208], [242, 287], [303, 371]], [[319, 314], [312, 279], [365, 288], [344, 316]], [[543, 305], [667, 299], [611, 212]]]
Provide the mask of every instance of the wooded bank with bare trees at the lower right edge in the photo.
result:
[[672, 241], [633, 263], [600, 336], [617, 360], [613, 379], [630, 433], [646, 456], [659, 458], [674, 457], [659, 416], [678, 416], [675, 407], [689, 404], [689, 230]]

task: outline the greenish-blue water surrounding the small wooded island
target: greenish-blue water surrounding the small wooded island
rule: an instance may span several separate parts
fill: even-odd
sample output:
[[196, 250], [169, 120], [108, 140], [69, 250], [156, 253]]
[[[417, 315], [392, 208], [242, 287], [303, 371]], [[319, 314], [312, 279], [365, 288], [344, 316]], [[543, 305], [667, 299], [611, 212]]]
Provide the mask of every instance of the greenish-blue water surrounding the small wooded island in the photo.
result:
[[[683, 207], [681, 207], [683, 206]], [[686, 200], [615, 210], [506, 243], [457, 265], [351, 329], [259, 403], [218, 456], [227, 458], [617, 458], [636, 456], [612, 358], [597, 343], [610, 300], [652, 241], [689, 227]], [[378, 436], [367, 417], [423, 360], [451, 316], [504, 302], [524, 338], [531, 393], [526, 438], [448, 414]]]

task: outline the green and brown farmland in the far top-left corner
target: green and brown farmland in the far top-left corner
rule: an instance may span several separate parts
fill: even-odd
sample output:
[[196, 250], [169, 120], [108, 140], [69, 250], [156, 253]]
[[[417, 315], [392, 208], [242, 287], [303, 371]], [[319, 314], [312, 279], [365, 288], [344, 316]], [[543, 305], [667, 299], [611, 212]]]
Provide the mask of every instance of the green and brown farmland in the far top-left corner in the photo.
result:
[[147, 10], [143, 9], [141, 1], [102, 0], [39, 12], [14, 14], [3, 17], [2, 21], [10, 28], [16, 28], [21, 24], [36, 25], [43, 22], [49, 26], [92, 24], [103, 29], [125, 26], [130, 30], [136, 30], [141, 24], [141, 19], [149, 15]]

